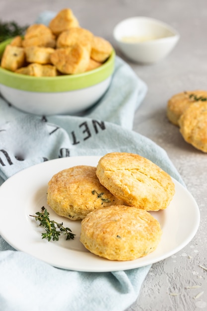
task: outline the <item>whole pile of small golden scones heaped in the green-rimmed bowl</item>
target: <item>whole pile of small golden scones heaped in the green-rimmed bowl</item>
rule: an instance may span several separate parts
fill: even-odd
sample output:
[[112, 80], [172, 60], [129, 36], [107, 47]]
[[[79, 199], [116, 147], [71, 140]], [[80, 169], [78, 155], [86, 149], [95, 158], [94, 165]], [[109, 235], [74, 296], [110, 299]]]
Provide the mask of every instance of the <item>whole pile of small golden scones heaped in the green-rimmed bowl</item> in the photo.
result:
[[5, 48], [1, 67], [34, 77], [80, 74], [101, 66], [112, 45], [79, 26], [71, 9], [61, 10], [50, 22], [28, 27]]

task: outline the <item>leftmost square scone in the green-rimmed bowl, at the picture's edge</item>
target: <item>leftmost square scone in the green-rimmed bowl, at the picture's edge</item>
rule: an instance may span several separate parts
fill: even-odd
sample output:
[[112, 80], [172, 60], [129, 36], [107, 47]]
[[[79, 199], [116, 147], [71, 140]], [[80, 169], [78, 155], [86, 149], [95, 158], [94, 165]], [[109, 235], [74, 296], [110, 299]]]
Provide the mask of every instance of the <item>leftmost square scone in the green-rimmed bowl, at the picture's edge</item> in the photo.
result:
[[10, 71], [16, 71], [25, 62], [24, 49], [8, 44], [3, 52], [0, 66]]

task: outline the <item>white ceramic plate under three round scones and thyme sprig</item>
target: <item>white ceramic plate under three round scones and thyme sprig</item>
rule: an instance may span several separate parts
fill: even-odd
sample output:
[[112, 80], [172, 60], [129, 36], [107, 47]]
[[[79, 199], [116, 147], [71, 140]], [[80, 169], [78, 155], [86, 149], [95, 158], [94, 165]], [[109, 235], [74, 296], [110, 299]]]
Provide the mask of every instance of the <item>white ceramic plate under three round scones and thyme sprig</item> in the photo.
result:
[[[107, 272], [138, 268], [165, 259], [178, 252], [194, 237], [200, 223], [199, 208], [185, 187], [173, 179], [175, 195], [165, 211], [151, 214], [160, 222], [163, 234], [157, 249], [132, 261], [111, 261], [98, 257], [79, 241], [80, 222], [56, 215], [47, 205], [47, 183], [58, 171], [74, 165], [96, 166], [98, 156], [74, 156], [43, 162], [7, 179], [0, 186], [0, 234], [15, 249], [24, 251], [55, 267]], [[44, 231], [33, 217], [44, 206], [50, 219], [63, 222], [76, 234], [73, 240], [42, 239]]]

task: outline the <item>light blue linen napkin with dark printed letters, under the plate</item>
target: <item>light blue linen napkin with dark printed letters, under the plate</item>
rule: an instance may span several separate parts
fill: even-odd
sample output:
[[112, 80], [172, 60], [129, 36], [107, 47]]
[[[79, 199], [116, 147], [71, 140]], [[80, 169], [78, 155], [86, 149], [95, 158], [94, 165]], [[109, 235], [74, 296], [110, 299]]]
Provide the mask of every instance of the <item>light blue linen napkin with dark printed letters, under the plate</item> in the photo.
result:
[[[166, 152], [132, 131], [135, 110], [146, 91], [146, 84], [116, 57], [110, 88], [82, 116], [31, 115], [0, 98], [0, 184], [45, 160], [114, 151], [145, 156], [182, 182]], [[14, 250], [0, 237], [0, 311], [124, 311], [138, 298], [149, 269], [58, 269]]]

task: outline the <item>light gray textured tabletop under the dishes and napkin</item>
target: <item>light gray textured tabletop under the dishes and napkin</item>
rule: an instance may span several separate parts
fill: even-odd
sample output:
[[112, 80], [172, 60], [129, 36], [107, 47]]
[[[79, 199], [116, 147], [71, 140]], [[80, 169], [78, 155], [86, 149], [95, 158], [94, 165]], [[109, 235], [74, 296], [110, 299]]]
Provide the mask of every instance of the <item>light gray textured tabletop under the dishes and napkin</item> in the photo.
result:
[[[150, 16], [174, 26], [181, 34], [175, 50], [156, 65], [128, 62], [148, 85], [136, 112], [134, 130], [163, 147], [195, 197], [201, 224], [180, 252], [154, 264], [137, 302], [128, 311], [207, 310], [207, 154], [182, 139], [166, 118], [167, 100], [183, 90], [207, 89], [206, 0], [0, 0], [0, 19], [32, 23], [42, 10], [70, 7], [82, 27], [113, 41], [114, 26], [135, 15]], [[187, 288], [191, 287], [191, 288]], [[202, 294], [203, 293], [203, 294]]]

